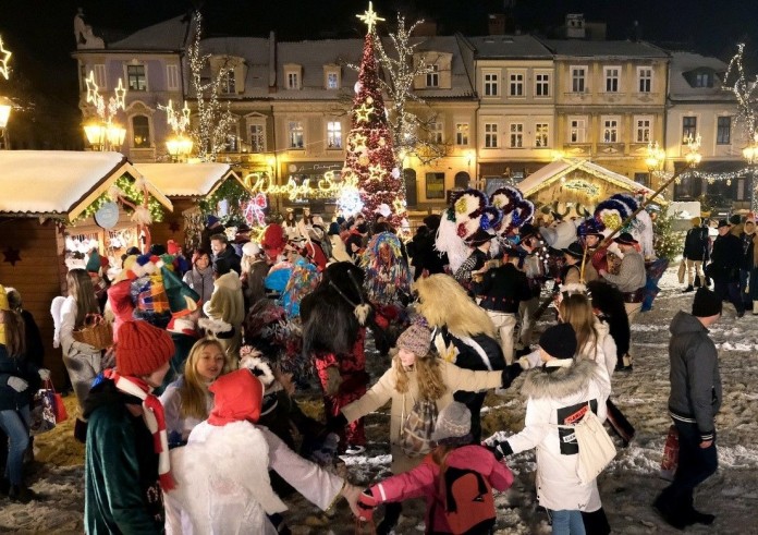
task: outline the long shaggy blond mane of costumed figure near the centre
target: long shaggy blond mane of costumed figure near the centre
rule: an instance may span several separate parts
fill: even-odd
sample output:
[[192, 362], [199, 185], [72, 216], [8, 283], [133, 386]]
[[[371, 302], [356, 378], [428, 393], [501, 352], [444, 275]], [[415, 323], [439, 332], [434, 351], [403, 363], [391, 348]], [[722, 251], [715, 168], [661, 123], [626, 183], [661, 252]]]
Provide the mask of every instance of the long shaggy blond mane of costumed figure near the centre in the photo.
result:
[[416, 309], [431, 327], [447, 327], [459, 337], [481, 333], [496, 337], [494, 324], [487, 312], [449, 275], [423, 277], [416, 281], [414, 290], [418, 292]]

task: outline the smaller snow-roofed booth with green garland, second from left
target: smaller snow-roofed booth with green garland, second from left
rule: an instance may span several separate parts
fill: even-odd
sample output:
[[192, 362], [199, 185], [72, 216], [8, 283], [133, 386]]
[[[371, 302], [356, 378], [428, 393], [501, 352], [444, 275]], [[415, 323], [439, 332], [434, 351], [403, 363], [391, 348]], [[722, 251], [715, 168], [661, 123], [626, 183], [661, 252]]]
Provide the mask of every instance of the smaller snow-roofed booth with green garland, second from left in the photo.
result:
[[152, 241], [166, 244], [174, 240], [187, 253], [198, 243], [205, 214], [217, 214], [219, 203], [240, 203], [250, 197], [229, 163], [135, 163], [134, 167], [149, 177], [174, 207], [171, 216], [150, 228]]

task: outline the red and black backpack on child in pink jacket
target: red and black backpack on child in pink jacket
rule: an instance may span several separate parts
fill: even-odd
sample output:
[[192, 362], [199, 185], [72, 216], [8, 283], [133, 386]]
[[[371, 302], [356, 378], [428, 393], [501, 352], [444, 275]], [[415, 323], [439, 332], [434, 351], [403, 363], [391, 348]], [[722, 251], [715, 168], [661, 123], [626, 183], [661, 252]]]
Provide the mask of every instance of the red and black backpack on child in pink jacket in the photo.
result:
[[[444, 518], [455, 535], [488, 534], [494, 527], [497, 513], [492, 486], [479, 472], [441, 466], [440, 493]], [[432, 515], [433, 519], [433, 515]], [[433, 532], [435, 530], [430, 530]]]

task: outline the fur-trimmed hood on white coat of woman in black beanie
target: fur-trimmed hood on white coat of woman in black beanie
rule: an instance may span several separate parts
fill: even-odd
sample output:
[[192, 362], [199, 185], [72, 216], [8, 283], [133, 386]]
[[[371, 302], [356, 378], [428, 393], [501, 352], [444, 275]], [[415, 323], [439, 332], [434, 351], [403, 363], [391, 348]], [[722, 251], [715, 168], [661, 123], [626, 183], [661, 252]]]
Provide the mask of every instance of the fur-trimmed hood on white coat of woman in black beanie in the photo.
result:
[[595, 375], [592, 361], [575, 361], [570, 366], [540, 366], [524, 379], [522, 393], [527, 398], [561, 399], [586, 390]]

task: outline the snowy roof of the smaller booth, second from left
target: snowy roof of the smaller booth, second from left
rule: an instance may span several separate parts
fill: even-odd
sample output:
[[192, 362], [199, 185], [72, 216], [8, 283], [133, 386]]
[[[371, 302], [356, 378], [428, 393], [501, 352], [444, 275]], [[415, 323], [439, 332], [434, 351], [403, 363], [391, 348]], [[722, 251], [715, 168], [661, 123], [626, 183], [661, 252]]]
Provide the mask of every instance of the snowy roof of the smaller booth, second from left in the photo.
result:
[[233, 177], [244, 186], [229, 163], [135, 163], [134, 167], [167, 197], [206, 197]]

